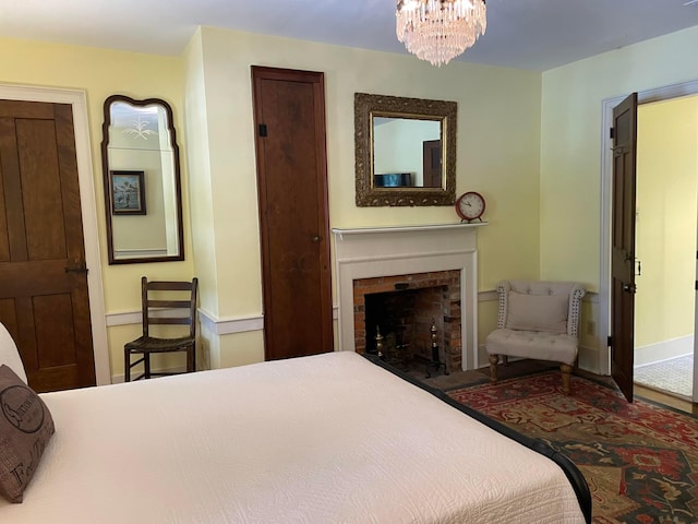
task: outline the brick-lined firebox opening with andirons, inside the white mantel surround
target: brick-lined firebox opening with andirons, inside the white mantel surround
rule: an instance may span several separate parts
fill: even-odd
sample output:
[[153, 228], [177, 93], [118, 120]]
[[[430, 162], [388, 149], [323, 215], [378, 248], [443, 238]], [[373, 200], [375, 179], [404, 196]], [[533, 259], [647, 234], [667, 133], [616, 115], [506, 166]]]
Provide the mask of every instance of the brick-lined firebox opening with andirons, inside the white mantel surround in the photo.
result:
[[395, 365], [444, 364], [461, 369], [460, 272], [361, 278], [354, 288], [354, 347]]

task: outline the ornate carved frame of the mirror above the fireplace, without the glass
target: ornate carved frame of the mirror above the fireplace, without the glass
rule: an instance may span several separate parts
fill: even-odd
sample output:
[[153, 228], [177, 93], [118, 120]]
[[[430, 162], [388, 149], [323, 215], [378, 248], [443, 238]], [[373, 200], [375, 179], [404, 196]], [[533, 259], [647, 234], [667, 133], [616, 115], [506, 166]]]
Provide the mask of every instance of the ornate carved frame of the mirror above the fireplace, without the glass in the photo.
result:
[[[456, 202], [456, 129], [458, 104], [455, 102], [402, 98], [354, 93], [354, 158], [357, 206], [432, 206]], [[376, 188], [373, 183], [373, 117], [430, 119], [441, 121], [445, 159], [441, 188]]]

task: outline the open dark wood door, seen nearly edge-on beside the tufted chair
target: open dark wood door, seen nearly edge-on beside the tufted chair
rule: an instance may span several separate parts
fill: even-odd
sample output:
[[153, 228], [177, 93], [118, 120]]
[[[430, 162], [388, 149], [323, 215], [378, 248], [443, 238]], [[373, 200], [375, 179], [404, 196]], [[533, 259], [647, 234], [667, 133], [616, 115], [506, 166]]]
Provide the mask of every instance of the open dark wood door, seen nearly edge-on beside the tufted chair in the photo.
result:
[[637, 93], [613, 109], [611, 374], [633, 402]]

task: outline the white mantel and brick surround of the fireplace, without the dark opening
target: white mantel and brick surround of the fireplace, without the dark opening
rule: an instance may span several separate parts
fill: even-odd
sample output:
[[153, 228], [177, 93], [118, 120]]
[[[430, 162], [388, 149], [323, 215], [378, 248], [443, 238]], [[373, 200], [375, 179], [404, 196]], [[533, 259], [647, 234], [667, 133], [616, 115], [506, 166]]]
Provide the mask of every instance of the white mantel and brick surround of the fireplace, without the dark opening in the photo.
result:
[[[338, 350], [363, 352], [368, 293], [441, 287], [442, 357], [450, 370], [476, 369], [478, 224], [333, 229], [338, 296]], [[458, 279], [456, 283], [455, 281]], [[356, 291], [354, 291], [356, 289]]]

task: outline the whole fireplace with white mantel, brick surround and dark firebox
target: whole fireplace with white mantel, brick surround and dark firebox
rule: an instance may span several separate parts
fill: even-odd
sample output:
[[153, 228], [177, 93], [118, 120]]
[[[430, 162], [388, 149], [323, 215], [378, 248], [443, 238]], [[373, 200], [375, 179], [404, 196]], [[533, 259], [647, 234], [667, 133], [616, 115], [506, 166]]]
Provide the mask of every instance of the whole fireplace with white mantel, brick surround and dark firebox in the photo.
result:
[[[393, 333], [388, 342], [393, 343], [394, 338], [396, 345], [408, 344], [408, 352], [430, 357], [429, 326], [433, 319], [441, 358], [448, 369], [477, 368], [477, 228], [484, 225], [486, 223], [333, 229], [337, 350], [363, 353], [374, 347], [374, 342], [366, 341], [375, 336], [372, 335], [375, 326], [371, 324], [377, 313], [370, 312], [366, 320], [366, 296], [371, 302], [373, 295], [387, 295], [380, 297], [384, 300], [381, 309], [383, 314], [396, 318], [383, 322], [397, 326], [396, 331], [382, 333]], [[400, 294], [407, 295], [396, 298]], [[397, 306], [402, 300], [405, 303]], [[438, 306], [432, 308], [433, 303]], [[421, 311], [408, 321], [406, 311], [410, 308]], [[398, 325], [400, 322], [404, 325]], [[406, 341], [408, 329], [412, 334]]]

